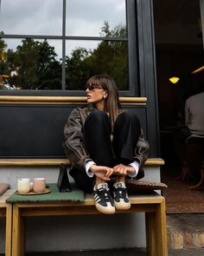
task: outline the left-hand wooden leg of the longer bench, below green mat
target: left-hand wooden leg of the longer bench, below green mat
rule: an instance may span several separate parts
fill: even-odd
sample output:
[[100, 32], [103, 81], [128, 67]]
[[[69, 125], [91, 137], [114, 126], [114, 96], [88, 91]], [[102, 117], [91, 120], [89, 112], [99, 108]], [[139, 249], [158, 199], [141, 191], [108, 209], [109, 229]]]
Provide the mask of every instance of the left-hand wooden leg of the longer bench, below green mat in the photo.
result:
[[24, 256], [24, 218], [21, 209], [13, 207], [12, 256]]

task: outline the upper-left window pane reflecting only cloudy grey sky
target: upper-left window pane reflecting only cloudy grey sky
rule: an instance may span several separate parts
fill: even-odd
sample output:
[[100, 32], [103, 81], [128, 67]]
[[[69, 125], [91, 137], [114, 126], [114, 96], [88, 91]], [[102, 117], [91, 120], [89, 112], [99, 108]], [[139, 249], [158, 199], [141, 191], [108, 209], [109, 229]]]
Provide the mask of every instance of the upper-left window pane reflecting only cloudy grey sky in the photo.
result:
[[4, 34], [62, 34], [62, 0], [1, 0], [0, 4]]

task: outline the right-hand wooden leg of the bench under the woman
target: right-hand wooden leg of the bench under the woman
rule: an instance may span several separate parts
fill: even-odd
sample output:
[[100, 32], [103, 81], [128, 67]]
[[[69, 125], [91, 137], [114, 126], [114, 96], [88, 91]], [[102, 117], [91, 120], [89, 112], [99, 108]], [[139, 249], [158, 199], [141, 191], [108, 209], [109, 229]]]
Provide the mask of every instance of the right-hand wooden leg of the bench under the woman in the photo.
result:
[[145, 213], [147, 253], [149, 256], [168, 256], [165, 200], [156, 212]]

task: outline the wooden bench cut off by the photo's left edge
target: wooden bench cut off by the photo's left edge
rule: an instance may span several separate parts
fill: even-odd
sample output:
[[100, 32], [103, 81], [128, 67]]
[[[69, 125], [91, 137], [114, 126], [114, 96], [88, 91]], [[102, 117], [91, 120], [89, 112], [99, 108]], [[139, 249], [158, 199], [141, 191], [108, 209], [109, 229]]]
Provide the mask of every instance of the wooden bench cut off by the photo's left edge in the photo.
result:
[[14, 190], [7, 190], [0, 196], [0, 217], [6, 218], [5, 228], [5, 256], [11, 255], [11, 238], [12, 238], [12, 205], [6, 200], [13, 194]]

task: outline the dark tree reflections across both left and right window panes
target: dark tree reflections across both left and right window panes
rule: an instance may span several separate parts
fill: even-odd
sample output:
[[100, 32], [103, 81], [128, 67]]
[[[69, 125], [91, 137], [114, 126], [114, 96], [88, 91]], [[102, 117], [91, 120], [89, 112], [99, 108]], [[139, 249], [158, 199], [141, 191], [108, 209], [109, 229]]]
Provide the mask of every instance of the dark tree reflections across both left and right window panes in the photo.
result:
[[[100, 36], [125, 37], [122, 25], [110, 30], [104, 23]], [[61, 89], [61, 62], [57, 60], [54, 47], [45, 40], [22, 40], [16, 50], [8, 49], [0, 39], [0, 89]], [[6, 53], [6, 59], [5, 59]], [[4, 54], [4, 56], [3, 56]], [[88, 77], [96, 74], [111, 75], [118, 89], [127, 89], [128, 65], [127, 44], [124, 42], [102, 41], [96, 49], [76, 48], [71, 56], [66, 56], [67, 89], [83, 89]]]

